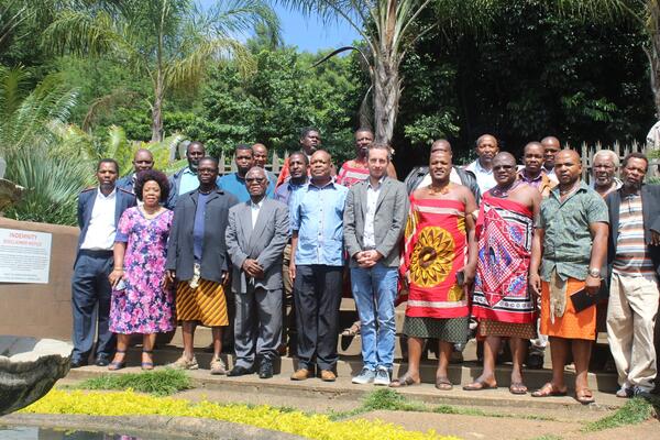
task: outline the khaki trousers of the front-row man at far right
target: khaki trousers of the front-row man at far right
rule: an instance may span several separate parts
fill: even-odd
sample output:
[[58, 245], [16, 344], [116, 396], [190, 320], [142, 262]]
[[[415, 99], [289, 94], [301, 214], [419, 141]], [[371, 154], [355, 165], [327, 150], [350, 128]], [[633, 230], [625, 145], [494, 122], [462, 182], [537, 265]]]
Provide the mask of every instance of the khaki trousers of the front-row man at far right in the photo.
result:
[[653, 327], [659, 296], [656, 279], [612, 274], [607, 341], [620, 386], [653, 389], [657, 374]]

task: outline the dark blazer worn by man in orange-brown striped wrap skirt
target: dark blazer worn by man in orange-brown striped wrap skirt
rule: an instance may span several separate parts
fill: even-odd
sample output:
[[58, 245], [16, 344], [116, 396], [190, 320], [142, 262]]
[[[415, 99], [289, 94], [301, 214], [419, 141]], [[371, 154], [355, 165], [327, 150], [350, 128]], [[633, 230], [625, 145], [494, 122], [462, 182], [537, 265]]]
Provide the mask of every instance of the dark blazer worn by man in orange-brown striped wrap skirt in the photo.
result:
[[[193, 278], [195, 264], [193, 229], [199, 189], [182, 195], [174, 209], [174, 220], [167, 243], [165, 268], [176, 271], [179, 280]], [[229, 208], [237, 205], [234, 196], [216, 188], [207, 199], [204, 222], [204, 250], [201, 253], [201, 278], [221, 283], [222, 273], [229, 268], [224, 230], [227, 229]]]

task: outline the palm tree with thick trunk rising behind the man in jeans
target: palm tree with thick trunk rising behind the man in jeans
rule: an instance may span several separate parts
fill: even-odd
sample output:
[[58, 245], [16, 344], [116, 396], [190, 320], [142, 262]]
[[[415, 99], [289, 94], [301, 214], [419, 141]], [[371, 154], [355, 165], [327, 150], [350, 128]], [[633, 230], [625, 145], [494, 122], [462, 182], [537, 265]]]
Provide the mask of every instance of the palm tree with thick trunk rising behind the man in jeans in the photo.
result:
[[[402, 62], [424, 35], [446, 25], [482, 26], [496, 0], [276, 0], [305, 14], [318, 14], [327, 22], [343, 20], [363, 38], [367, 53], [373, 94], [374, 132], [377, 142], [392, 141], [398, 114], [403, 80]], [[422, 13], [436, 14], [431, 24], [420, 22]], [[441, 38], [439, 37], [439, 43]], [[342, 47], [330, 56], [345, 50]]]

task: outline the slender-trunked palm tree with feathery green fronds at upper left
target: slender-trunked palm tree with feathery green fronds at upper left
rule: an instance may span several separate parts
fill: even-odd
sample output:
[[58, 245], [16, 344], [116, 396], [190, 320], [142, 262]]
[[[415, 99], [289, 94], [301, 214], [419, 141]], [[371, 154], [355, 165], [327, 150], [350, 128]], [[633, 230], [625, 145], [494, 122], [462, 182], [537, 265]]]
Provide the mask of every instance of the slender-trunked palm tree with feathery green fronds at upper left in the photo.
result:
[[199, 84], [206, 67], [233, 57], [243, 72], [253, 67], [237, 40], [255, 26], [273, 40], [279, 23], [262, 0], [227, 0], [201, 11], [187, 0], [95, 2], [66, 9], [44, 32], [44, 45], [58, 53], [112, 54], [150, 78], [152, 141], [163, 140], [163, 102], [169, 91]]

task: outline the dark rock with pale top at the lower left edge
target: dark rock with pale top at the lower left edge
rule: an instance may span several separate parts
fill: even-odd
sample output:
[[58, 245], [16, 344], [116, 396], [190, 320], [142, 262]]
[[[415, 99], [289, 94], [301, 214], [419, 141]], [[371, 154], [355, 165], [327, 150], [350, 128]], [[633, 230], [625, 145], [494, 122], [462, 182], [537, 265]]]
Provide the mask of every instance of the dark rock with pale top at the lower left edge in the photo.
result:
[[54, 339], [0, 336], [0, 416], [48, 393], [68, 373], [72, 350]]

